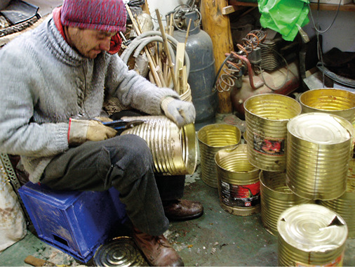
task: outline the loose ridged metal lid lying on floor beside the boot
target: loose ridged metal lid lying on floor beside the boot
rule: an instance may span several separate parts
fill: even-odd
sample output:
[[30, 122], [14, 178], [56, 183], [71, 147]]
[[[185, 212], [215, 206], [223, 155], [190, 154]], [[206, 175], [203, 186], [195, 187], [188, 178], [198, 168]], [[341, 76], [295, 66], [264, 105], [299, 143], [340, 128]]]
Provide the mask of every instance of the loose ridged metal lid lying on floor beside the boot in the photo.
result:
[[131, 237], [116, 237], [93, 256], [95, 266], [149, 266]]

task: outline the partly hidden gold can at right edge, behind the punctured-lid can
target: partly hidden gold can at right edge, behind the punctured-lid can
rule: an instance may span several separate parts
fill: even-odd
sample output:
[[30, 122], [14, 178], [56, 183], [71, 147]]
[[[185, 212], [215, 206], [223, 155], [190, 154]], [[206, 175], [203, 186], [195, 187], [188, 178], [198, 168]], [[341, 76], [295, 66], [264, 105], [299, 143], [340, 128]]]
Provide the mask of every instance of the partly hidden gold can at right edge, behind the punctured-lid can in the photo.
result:
[[355, 238], [355, 159], [349, 163], [345, 193], [336, 200], [321, 200], [320, 204], [342, 216], [349, 230], [348, 238]]

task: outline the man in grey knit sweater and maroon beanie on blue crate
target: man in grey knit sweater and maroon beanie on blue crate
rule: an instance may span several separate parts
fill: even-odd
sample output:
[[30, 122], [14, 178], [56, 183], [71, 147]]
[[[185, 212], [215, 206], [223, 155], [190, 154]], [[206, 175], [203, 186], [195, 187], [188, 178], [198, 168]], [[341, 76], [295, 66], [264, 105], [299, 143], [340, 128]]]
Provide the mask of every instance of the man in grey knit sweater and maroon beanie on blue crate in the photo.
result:
[[[163, 236], [169, 222], [147, 143], [116, 136], [95, 119], [104, 96], [114, 96], [124, 106], [165, 114], [178, 126], [194, 122], [191, 103], [129, 71], [117, 56], [125, 24], [121, 0], [65, 0], [53, 17], [0, 50], [0, 150], [20, 155], [29, 180], [55, 190], [114, 186], [149, 264], [181, 266]], [[165, 210], [175, 219], [203, 212], [187, 200], [169, 202]]]

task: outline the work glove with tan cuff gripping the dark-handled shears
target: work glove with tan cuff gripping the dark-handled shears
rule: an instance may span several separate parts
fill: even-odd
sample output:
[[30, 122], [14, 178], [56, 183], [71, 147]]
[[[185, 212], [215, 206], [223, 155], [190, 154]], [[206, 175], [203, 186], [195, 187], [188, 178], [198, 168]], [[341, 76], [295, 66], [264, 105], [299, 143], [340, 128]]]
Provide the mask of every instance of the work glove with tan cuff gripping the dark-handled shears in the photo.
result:
[[102, 141], [116, 136], [117, 131], [95, 119], [69, 119], [68, 143], [80, 145], [86, 141]]

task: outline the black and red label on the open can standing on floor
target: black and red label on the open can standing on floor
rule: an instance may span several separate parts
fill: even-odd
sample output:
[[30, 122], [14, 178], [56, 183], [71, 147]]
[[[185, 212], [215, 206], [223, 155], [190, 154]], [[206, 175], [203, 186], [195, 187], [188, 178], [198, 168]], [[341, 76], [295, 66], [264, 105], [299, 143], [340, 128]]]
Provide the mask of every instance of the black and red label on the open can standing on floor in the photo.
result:
[[221, 181], [222, 202], [232, 207], [254, 207], [260, 204], [260, 181], [250, 185], [232, 185]]

